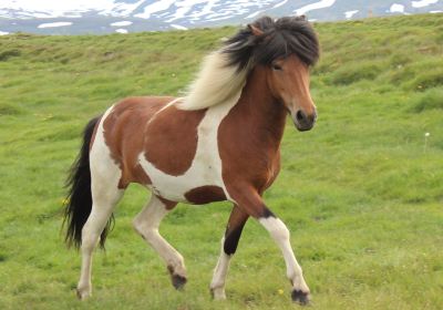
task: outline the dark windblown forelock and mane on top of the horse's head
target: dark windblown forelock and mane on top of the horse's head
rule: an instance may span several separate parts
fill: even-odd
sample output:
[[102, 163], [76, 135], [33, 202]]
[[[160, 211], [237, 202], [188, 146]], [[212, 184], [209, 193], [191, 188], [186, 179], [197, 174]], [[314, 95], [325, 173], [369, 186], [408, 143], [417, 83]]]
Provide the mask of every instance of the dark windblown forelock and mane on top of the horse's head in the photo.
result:
[[248, 64], [270, 64], [290, 54], [296, 54], [310, 66], [320, 55], [317, 34], [303, 16], [277, 20], [259, 18], [228, 39], [223, 52], [228, 55], [229, 65], [236, 65], [238, 70]]

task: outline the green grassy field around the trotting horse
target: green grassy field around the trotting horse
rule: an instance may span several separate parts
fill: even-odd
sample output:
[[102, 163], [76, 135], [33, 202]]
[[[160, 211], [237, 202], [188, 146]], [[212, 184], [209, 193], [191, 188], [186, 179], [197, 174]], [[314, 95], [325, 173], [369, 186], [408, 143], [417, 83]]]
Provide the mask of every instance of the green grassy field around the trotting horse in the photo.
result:
[[[310, 309], [443, 309], [443, 14], [316, 24], [313, 131], [288, 123], [266, 193], [291, 230]], [[92, 116], [128, 95], [179, 94], [235, 28], [104, 37], [0, 37], [0, 309], [293, 309], [282, 257], [254, 220], [210, 299], [230, 205], [181, 205], [162, 234], [184, 255], [177, 292], [131, 226], [133, 185], [97, 251], [93, 297], [60, 231], [65, 173]], [[430, 133], [425, 142], [425, 133]], [[281, 293], [282, 292], [282, 293]]]

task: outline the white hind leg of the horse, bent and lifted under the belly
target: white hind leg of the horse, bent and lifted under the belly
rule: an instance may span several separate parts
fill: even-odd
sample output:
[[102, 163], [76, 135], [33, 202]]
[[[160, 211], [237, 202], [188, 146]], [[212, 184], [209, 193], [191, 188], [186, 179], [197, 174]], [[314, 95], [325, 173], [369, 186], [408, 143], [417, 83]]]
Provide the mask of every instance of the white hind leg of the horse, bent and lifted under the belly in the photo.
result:
[[134, 218], [133, 225], [143, 239], [145, 239], [166, 262], [173, 286], [176, 289], [182, 289], [186, 283], [186, 268], [183, 256], [158, 232], [159, 223], [176, 205], [177, 203], [166, 202], [153, 194], [150, 203]]

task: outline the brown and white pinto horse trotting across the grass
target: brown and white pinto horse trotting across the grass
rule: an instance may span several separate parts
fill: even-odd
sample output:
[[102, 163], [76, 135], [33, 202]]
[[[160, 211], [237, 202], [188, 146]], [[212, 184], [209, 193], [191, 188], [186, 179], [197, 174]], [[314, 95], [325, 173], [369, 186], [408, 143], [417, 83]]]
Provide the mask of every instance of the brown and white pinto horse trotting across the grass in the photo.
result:
[[305, 17], [264, 17], [209, 54], [184, 97], [128, 97], [92, 120], [69, 178], [66, 241], [81, 247], [78, 296], [91, 296], [92, 252], [103, 247], [112, 213], [131, 183], [151, 189], [135, 230], [165, 260], [172, 282], [186, 283], [183, 256], [158, 232], [177, 205], [234, 204], [210, 290], [225, 298], [229, 260], [243, 227], [257, 219], [282, 251], [292, 300], [307, 303], [289, 230], [261, 196], [280, 169], [280, 142], [289, 114], [299, 131], [317, 114], [309, 68], [319, 43]]

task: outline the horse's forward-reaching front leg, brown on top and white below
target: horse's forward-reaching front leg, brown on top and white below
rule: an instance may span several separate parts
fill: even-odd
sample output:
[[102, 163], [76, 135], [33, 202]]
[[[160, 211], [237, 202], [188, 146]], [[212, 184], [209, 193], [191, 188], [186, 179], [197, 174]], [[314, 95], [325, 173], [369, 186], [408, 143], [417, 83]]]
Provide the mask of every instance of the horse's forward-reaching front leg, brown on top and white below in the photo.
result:
[[289, 241], [290, 234], [286, 225], [266, 207], [257, 190], [246, 187], [230, 195], [241, 209], [256, 218], [268, 230], [280, 248], [286, 262], [287, 277], [292, 285], [292, 300], [300, 304], [309, 303], [310, 291], [305, 282], [301, 267], [293, 255]]

